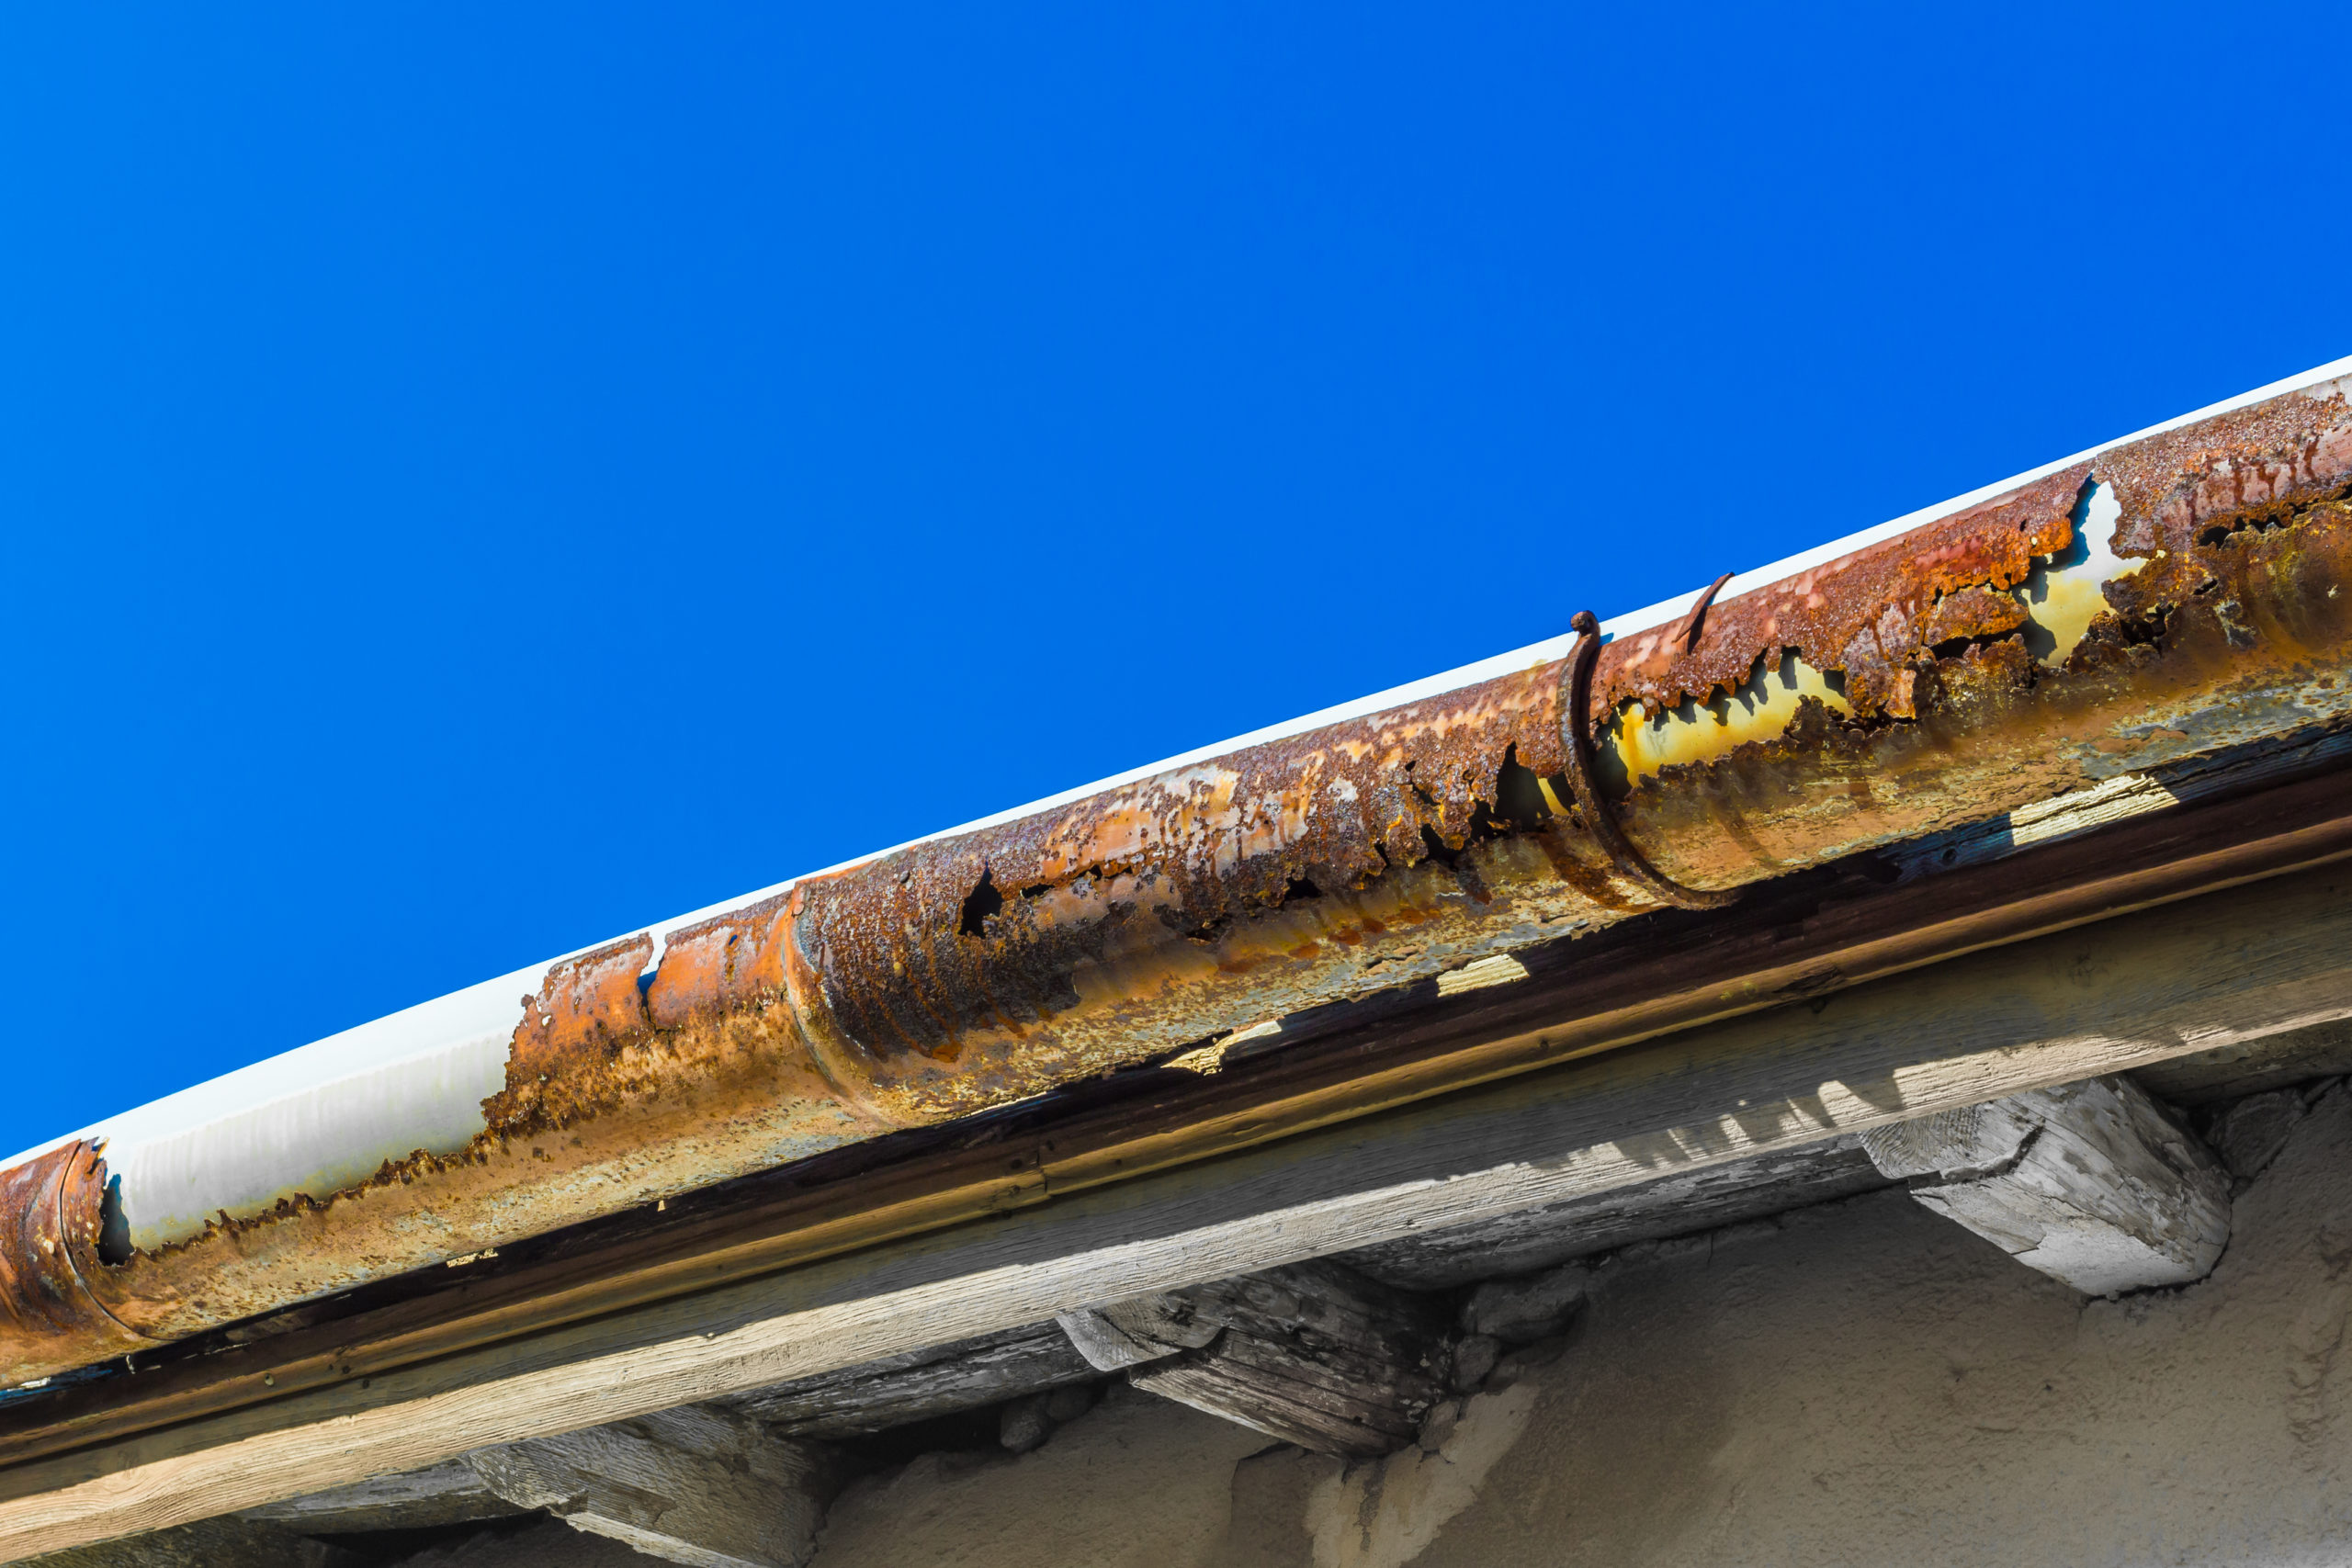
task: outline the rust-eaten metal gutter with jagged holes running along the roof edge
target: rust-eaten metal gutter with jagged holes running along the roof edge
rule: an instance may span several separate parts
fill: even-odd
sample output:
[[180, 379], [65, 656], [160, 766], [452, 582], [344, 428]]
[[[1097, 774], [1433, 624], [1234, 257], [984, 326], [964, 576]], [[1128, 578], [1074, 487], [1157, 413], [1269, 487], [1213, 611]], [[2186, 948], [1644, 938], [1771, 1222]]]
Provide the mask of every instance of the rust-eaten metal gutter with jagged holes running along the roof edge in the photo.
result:
[[2352, 719], [2345, 369], [1625, 616], [1585, 715], [1562, 639], [61, 1140], [0, 1171], [0, 1382], [1646, 912], [1564, 719], [1698, 889]]

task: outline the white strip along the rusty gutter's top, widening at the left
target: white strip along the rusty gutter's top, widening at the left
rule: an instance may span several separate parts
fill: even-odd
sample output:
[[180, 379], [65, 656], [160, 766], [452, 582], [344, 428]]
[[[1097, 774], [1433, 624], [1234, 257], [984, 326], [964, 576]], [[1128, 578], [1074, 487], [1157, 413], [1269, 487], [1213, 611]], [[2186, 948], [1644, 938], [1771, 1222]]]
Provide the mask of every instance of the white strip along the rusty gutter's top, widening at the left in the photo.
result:
[[[1717, 599], [1736, 599], [1743, 592], [1766, 588], [1771, 583], [1778, 583], [1780, 578], [1806, 571], [1809, 567], [1818, 567], [1823, 562], [1837, 559], [1839, 555], [1860, 550], [1863, 545], [1872, 545], [1882, 538], [1891, 538], [1893, 534], [1905, 534], [1940, 517], [1950, 517], [1952, 512], [1966, 510], [1978, 501], [1990, 501], [1992, 496], [2011, 491], [2020, 484], [2032, 484], [2044, 475], [2053, 475], [2060, 468], [2070, 468], [2086, 458], [2096, 458], [2098, 454], [2122, 447], [2126, 442], [2138, 442], [2150, 435], [2178, 430], [2180, 425], [2192, 425], [2201, 418], [2230, 414], [2232, 409], [2265, 402], [2270, 397], [2281, 397], [2286, 393], [2312, 390], [2317, 386], [2345, 376], [2352, 376], [2352, 355], [2331, 360], [2326, 364], [2300, 371], [2296, 376], [2286, 376], [2281, 381], [2272, 381], [2270, 386], [2258, 386], [2251, 393], [2239, 393], [2237, 397], [2206, 404], [2190, 414], [2180, 414], [2159, 425], [2147, 425], [2145, 430], [2119, 435], [2114, 440], [2100, 442], [2098, 447], [2086, 447], [2084, 451], [2063, 456], [2053, 463], [2042, 463], [2039, 468], [2030, 468], [2020, 475], [1997, 480], [1994, 484], [1980, 484], [1978, 489], [1971, 489], [1964, 496], [1952, 496], [1950, 501], [1924, 505], [1915, 512], [1891, 517], [1877, 527], [1846, 534], [1844, 538], [1832, 538], [1830, 543], [1813, 545], [1797, 555], [1771, 562], [1769, 567], [1740, 571], [1729, 583], [1724, 583], [1724, 590], [1722, 595], [1717, 595]], [[1665, 625], [1684, 616], [1698, 599], [1698, 592], [1700, 588], [1693, 588], [1672, 599], [1661, 599], [1658, 604], [1649, 604], [1646, 609], [1637, 609], [1602, 621], [1602, 632], [1609, 637], [1625, 637], [1632, 632], [1644, 632], [1653, 625]], [[689, 910], [654, 926], [640, 926], [640, 931], [647, 931], [654, 938], [654, 964], [659, 964], [661, 952], [668, 945], [673, 931], [682, 931], [684, 926], [710, 919], [715, 914], [724, 914], [729, 910], [741, 910], [743, 905], [755, 903], [760, 898], [774, 898], [776, 893], [790, 891], [793, 884], [797, 882], [807, 882], [811, 877], [826, 877], [847, 870], [851, 865], [863, 865], [866, 860], [877, 860], [882, 856], [891, 856], [898, 853], [901, 849], [913, 849], [917, 844], [936, 844], [941, 839], [955, 839], [967, 832], [978, 832], [983, 827], [1018, 823], [1021, 818], [1037, 816], [1042, 811], [1054, 811], [1056, 806], [1068, 806], [1073, 802], [1087, 799], [1089, 795], [1098, 795], [1103, 790], [1117, 790], [1122, 785], [1138, 783], [1143, 778], [1152, 778], [1155, 773], [1167, 773], [1171, 769], [1209, 762], [1214, 757], [1223, 757], [1228, 752], [1237, 752], [1249, 745], [1282, 741], [1287, 736], [1305, 733], [1310, 729], [1322, 729], [1324, 724], [1338, 724], [1343, 719], [1355, 719], [1367, 712], [1381, 712], [1385, 708], [1402, 708], [1404, 703], [1444, 696], [1446, 691], [1458, 691], [1482, 679], [1494, 679], [1496, 675], [1510, 675], [1515, 670], [1526, 670], [1541, 663], [1550, 663], [1555, 658], [1566, 656], [1566, 651], [1573, 644], [1576, 637], [1571, 632], [1564, 632], [1559, 637], [1545, 637], [1543, 642], [1534, 642], [1524, 649], [1512, 649], [1510, 654], [1479, 658], [1477, 663], [1468, 663], [1456, 670], [1428, 675], [1423, 679], [1406, 682], [1402, 686], [1390, 686], [1388, 691], [1374, 691], [1369, 696], [1359, 696], [1348, 703], [1336, 703], [1317, 712], [1298, 715], [1296, 719], [1284, 719], [1279, 724], [1268, 724], [1265, 729], [1254, 729], [1249, 733], [1232, 736], [1230, 741], [1218, 741], [1214, 745], [1202, 745], [1190, 752], [1178, 752], [1176, 757], [1164, 757], [1160, 762], [1138, 769], [1127, 769], [1124, 773], [1112, 773], [1110, 778], [1098, 778], [1094, 783], [1077, 785], [1075, 790], [1047, 795], [1044, 799], [1028, 802], [1025, 806], [1011, 806], [1009, 811], [997, 811], [993, 816], [960, 823], [955, 827], [927, 832], [903, 844], [856, 856], [854, 860], [842, 860], [837, 865], [828, 865], [816, 872], [802, 872], [800, 877], [788, 877], [786, 882], [776, 882], [764, 889], [753, 889], [750, 893], [739, 893], [734, 898], [727, 898], [724, 903], [703, 905], [701, 910]], [[230, 1114], [249, 1112], [256, 1105], [318, 1093], [336, 1081], [381, 1072], [383, 1067], [397, 1063], [414, 1063], [419, 1072], [430, 1072], [449, 1053], [463, 1053], [466, 1048], [477, 1046], [485, 1032], [501, 1030], [510, 1034], [515, 1023], [522, 1018], [520, 1009], [522, 997], [527, 992], [539, 990], [550, 966], [562, 964], [564, 959], [576, 957], [581, 952], [593, 952], [595, 947], [602, 945], [604, 943], [574, 947], [572, 952], [562, 952], [548, 959], [546, 964], [534, 964], [532, 969], [517, 969], [515, 973], [501, 976], [496, 980], [482, 980], [477, 985], [468, 985], [445, 997], [435, 997], [433, 1001], [421, 1001], [412, 1009], [402, 1009], [397, 1013], [388, 1013], [372, 1023], [341, 1030], [339, 1034], [329, 1034], [308, 1046], [294, 1046], [292, 1051], [263, 1058], [259, 1063], [252, 1063], [249, 1067], [238, 1067], [235, 1072], [226, 1072], [205, 1084], [195, 1084], [193, 1088], [181, 1088], [179, 1093], [165, 1095], [162, 1100], [151, 1100], [148, 1105], [120, 1112], [80, 1131], [64, 1133], [59, 1138], [45, 1138], [24, 1154], [0, 1161], [0, 1168], [33, 1159], [35, 1154], [54, 1150], [56, 1145], [68, 1143], [73, 1138], [106, 1135], [111, 1140], [108, 1161], [113, 1171], [125, 1178], [125, 1190], [129, 1190], [132, 1168], [136, 1164], [136, 1147], [141, 1145], [158, 1145], [162, 1140], [174, 1140], [205, 1124], [221, 1121]], [[499, 1001], [501, 994], [506, 997], [506, 1001]], [[226, 1157], [228, 1154], [223, 1152], [223, 1159]]]

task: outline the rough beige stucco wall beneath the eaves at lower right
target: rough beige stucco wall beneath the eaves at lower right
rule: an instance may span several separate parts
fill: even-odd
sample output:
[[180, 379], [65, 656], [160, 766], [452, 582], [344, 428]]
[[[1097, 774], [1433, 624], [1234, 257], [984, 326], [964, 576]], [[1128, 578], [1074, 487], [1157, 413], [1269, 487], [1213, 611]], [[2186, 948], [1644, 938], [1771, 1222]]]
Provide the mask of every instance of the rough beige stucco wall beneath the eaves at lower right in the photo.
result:
[[2084, 1302], [1882, 1192], [1632, 1248], [1435, 1453], [1343, 1472], [1122, 1394], [861, 1481], [816, 1568], [2347, 1563], [2347, 1309], [2336, 1091], [2183, 1291]]

